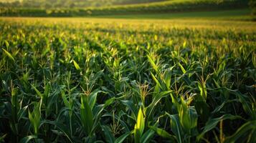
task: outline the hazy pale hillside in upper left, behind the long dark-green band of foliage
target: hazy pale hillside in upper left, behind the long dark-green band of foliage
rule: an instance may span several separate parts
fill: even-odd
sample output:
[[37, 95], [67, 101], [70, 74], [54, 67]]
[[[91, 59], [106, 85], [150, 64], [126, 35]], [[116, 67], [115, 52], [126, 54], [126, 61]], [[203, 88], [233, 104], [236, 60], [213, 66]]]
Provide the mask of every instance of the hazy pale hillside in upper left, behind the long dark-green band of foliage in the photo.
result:
[[166, 0], [1, 0], [1, 7], [23, 8], [85, 8], [123, 4], [141, 4]]

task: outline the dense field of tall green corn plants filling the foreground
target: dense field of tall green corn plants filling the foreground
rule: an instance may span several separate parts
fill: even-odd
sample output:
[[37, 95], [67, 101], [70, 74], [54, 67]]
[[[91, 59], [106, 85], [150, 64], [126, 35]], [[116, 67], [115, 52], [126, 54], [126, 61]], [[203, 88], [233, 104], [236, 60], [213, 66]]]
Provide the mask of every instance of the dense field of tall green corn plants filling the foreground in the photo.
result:
[[253, 24], [0, 24], [0, 142], [256, 142]]

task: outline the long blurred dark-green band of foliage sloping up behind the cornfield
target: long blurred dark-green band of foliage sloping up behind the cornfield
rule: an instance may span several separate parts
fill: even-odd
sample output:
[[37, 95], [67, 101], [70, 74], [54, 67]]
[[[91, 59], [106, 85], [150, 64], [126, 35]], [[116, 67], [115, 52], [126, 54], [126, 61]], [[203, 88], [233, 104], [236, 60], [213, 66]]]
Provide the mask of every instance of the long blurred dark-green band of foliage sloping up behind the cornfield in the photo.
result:
[[180, 11], [211, 11], [219, 9], [247, 8], [247, 0], [173, 0], [149, 4], [109, 6], [100, 8], [44, 9], [44, 8], [9, 8], [0, 9], [1, 16], [98, 16], [118, 14], [152, 14]]

